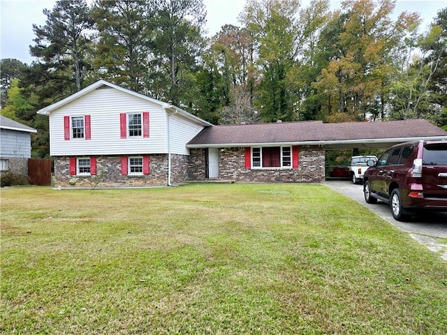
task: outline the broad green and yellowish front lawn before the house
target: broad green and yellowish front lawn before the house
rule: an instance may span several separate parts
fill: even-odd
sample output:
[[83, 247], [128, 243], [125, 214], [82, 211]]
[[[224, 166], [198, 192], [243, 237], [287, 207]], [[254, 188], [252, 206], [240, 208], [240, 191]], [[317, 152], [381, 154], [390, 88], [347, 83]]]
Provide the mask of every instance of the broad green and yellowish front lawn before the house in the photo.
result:
[[1, 190], [1, 334], [446, 334], [446, 292], [323, 185]]

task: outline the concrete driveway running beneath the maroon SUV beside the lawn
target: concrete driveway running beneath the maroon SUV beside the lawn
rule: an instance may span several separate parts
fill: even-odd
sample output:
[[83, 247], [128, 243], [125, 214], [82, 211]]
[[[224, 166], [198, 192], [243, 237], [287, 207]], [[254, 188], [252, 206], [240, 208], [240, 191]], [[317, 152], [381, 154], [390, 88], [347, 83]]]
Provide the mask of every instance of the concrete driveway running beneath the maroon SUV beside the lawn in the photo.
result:
[[413, 216], [408, 222], [396, 221], [386, 202], [378, 201], [376, 204], [367, 204], [363, 198], [363, 186], [354, 185], [351, 181], [326, 181], [325, 185], [333, 190], [347, 195], [358, 201], [362, 206], [384, 218], [386, 221], [408, 232], [413, 239], [424, 244], [430, 250], [447, 260], [447, 212], [426, 211]]

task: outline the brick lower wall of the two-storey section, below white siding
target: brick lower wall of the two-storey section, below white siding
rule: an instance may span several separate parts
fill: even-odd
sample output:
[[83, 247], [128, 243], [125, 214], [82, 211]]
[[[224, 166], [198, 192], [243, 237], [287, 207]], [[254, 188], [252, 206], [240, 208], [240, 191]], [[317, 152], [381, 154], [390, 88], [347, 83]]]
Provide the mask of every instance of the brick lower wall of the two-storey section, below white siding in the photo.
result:
[[[173, 183], [184, 181], [187, 177], [188, 156], [172, 155]], [[149, 156], [149, 174], [129, 176], [121, 174], [121, 156], [96, 156], [96, 176], [71, 176], [70, 158], [54, 159], [54, 186], [68, 187], [145, 187], [166, 186], [168, 184], [168, 155]]]

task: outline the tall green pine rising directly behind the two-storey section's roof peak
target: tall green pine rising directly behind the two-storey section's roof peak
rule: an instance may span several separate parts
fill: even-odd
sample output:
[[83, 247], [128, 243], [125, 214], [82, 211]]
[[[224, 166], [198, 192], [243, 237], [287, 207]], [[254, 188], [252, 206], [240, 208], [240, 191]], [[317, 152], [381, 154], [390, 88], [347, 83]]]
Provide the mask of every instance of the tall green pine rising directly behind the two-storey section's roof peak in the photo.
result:
[[97, 0], [92, 10], [99, 40], [94, 66], [104, 79], [151, 94], [152, 1]]

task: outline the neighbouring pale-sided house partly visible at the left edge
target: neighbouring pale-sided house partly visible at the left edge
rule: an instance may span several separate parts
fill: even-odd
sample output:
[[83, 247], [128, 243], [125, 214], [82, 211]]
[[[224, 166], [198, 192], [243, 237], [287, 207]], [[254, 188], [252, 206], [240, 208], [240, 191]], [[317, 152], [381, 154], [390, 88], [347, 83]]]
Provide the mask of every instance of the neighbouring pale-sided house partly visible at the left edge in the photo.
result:
[[28, 175], [31, 133], [36, 129], [0, 115], [0, 171]]

